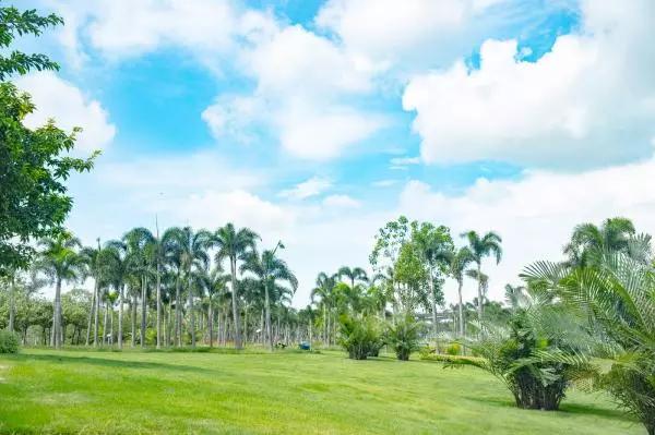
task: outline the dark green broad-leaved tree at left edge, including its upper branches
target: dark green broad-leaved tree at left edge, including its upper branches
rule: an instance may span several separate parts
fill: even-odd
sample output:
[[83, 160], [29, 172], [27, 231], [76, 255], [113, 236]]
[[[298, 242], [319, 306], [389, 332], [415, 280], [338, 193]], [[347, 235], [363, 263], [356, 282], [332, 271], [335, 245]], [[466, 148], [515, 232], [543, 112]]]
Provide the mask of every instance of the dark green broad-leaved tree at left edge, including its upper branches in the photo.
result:
[[16, 36], [38, 36], [61, 23], [57, 15], [0, 8], [0, 275], [27, 267], [35, 252], [27, 244], [31, 239], [56, 238], [63, 231], [72, 207], [63, 182], [72, 172], [90, 170], [97, 155], [87, 159], [66, 156], [74, 147], [79, 129], [69, 134], [52, 121], [27, 129], [23, 120], [35, 110], [29, 96], [3, 82], [16, 72], [57, 69], [44, 55], [5, 53]]

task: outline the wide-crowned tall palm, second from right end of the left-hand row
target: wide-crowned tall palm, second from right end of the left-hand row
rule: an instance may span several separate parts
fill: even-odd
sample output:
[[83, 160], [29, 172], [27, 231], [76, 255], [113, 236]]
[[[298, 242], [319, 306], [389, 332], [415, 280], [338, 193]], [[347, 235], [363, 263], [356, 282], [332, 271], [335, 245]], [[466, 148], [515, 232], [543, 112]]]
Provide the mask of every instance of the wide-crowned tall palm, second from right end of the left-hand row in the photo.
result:
[[237, 287], [237, 259], [250, 251], [254, 251], [255, 241], [260, 237], [249, 228], [237, 230], [233, 223], [218, 228], [213, 237], [213, 243], [217, 246], [216, 263], [229, 259], [231, 274], [231, 300], [233, 300], [233, 325], [235, 330], [235, 348], [241, 349], [241, 322], [239, 318], [239, 295]]

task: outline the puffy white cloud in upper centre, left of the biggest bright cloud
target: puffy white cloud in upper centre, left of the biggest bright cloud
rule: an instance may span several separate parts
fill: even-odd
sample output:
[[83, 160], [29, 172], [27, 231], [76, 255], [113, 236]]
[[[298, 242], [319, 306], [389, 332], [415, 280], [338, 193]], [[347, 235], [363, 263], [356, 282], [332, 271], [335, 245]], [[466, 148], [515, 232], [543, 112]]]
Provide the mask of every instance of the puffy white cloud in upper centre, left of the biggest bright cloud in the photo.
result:
[[370, 73], [330, 39], [299, 25], [270, 32], [241, 52], [257, 83], [250, 96], [221, 96], [203, 119], [215, 136], [264, 125], [295, 157], [329, 160], [386, 124], [384, 117], [345, 104], [372, 90]]

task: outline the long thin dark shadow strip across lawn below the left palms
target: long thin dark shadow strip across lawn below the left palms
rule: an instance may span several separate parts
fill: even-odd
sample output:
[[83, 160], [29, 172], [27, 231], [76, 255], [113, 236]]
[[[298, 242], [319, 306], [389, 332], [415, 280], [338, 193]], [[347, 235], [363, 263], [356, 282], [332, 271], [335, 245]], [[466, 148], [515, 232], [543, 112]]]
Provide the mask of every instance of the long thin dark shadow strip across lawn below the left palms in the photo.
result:
[[214, 370], [199, 367], [193, 365], [167, 364], [151, 361], [123, 361], [112, 360], [107, 358], [88, 358], [88, 357], [68, 357], [51, 354], [17, 354], [13, 355], [14, 361], [43, 361], [49, 363], [71, 363], [71, 364], [87, 364], [114, 368], [162, 368], [167, 371], [178, 372], [195, 372], [195, 373], [212, 373]]

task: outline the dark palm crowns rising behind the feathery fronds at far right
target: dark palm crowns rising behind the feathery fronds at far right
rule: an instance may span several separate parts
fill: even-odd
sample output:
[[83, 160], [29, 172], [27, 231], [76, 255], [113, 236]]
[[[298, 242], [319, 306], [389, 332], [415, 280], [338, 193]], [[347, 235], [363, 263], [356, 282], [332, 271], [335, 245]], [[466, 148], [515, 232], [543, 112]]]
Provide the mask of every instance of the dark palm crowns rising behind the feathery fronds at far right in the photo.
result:
[[586, 266], [594, 253], [628, 252], [634, 232], [632, 221], [621, 217], [605, 219], [600, 227], [581, 223], [575, 227], [571, 241], [564, 246], [564, 254], [569, 256], [568, 264]]

